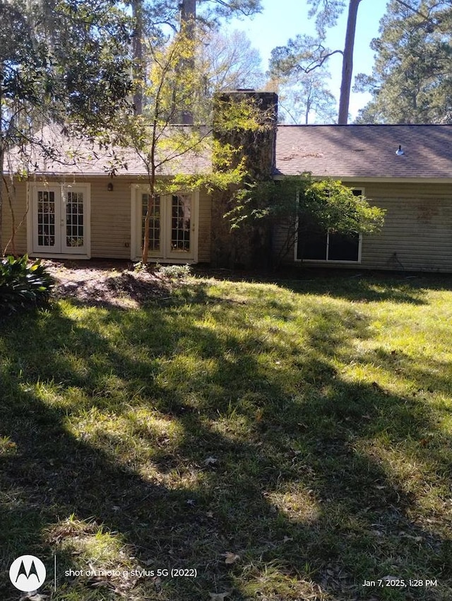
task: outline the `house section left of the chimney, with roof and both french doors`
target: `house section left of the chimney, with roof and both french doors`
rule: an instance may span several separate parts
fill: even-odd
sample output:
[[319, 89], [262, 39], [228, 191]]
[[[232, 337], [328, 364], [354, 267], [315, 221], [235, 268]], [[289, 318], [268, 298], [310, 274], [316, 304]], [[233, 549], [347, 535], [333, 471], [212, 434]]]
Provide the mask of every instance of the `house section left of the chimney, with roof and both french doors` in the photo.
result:
[[[17, 156], [10, 162], [13, 171], [23, 170]], [[30, 257], [140, 259], [148, 174], [136, 152], [102, 148], [46, 128], [25, 167], [30, 165], [28, 177], [15, 182], [13, 206], [3, 204], [1, 240], [7, 252], [14, 246]], [[172, 168], [190, 175], [210, 169], [210, 161], [187, 153]], [[167, 168], [159, 171], [159, 177], [170, 175]], [[150, 260], [209, 262], [210, 206], [203, 191], [157, 199]]]

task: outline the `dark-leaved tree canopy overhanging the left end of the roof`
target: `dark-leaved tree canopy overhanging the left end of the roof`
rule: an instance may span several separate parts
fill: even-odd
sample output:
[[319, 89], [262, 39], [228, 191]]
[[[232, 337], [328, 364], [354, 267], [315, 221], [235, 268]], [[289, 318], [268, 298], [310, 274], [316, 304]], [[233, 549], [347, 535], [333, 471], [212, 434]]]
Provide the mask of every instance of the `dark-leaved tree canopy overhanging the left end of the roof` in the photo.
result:
[[[130, 17], [109, 0], [0, 1], [4, 182], [4, 160], [13, 146], [23, 159], [31, 146], [47, 156], [56, 153], [35, 138], [42, 125], [92, 136], [109, 127], [129, 102], [130, 40]], [[0, 215], [2, 202], [0, 186]]]

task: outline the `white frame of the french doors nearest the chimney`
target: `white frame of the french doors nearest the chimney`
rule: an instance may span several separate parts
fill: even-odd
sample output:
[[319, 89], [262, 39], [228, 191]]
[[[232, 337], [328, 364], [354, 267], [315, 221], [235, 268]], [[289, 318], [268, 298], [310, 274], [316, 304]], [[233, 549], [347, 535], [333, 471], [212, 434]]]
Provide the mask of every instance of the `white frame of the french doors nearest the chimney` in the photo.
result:
[[[141, 195], [149, 192], [149, 186], [131, 185], [131, 260], [141, 259]], [[181, 192], [191, 195], [190, 252], [183, 255], [171, 250], [170, 199], [177, 194], [161, 194], [160, 204], [160, 251], [149, 252], [149, 262], [193, 264], [198, 262], [199, 192]]]

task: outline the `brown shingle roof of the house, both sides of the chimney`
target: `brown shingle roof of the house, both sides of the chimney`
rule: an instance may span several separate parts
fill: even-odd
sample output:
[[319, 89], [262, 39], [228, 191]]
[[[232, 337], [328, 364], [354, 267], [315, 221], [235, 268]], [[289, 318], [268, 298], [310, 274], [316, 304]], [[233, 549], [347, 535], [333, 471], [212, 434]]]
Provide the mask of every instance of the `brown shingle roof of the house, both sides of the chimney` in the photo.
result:
[[[181, 126], [182, 127], [182, 126]], [[30, 172], [46, 175], [146, 175], [130, 148], [100, 148], [45, 129], [49, 153], [34, 151]], [[49, 144], [49, 141], [51, 144]], [[397, 156], [398, 147], [403, 156]], [[10, 154], [13, 170], [21, 170]], [[119, 159], [119, 161], [118, 161]], [[159, 175], [190, 175], [210, 170], [210, 153], [184, 153], [165, 163]], [[276, 135], [275, 175], [311, 172], [319, 177], [452, 178], [452, 125], [280, 125]]]

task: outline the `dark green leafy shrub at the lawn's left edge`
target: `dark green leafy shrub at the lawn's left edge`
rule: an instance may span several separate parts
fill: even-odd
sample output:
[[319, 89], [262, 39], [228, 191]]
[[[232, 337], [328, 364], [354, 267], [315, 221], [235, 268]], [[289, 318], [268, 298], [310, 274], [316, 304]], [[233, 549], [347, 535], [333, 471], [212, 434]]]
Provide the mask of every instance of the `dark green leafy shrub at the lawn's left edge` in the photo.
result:
[[0, 263], [0, 314], [45, 305], [53, 284], [40, 260], [29, 265], [27, 255], [6, 257]]

